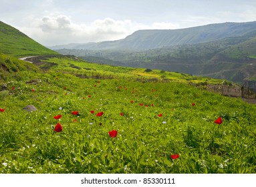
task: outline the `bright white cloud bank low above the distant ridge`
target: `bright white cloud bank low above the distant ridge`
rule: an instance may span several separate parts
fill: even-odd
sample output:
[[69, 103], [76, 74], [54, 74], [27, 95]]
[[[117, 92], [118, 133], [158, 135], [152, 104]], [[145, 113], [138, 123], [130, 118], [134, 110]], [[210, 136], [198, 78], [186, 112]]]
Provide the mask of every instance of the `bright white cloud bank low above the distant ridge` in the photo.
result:
[[88, 24], [72, 23], [66, 15], [47, 15], [41, 19], [29, 18], [29, 26], [19, 27], [43, 45], [87, 43], [122, 39], [138, 29], [176, 29], [178, 25], [166, 22], [144, 25], [129, 19], [114, 20], [109, 17], [96, 19]]

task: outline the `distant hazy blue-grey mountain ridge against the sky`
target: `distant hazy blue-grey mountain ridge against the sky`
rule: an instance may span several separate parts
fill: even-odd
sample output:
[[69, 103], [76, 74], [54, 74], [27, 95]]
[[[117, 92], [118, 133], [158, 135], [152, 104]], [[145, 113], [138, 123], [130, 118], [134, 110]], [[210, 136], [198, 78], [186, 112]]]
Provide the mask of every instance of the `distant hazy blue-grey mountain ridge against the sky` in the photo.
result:
[[128, 35], [124, 39], [116, 41], [102, 41], [98, 43], [72, 43], [68, 45], [56, 45], [50, 49], [130, 49], [145, 50], [168, 47], [173, 45], [197, 44], [224, 39], [227, 37], [238, 37], [256, 31], [256, 21], [245, 23], [215, 23], [186, 29], [154, 29], [139, 30]]

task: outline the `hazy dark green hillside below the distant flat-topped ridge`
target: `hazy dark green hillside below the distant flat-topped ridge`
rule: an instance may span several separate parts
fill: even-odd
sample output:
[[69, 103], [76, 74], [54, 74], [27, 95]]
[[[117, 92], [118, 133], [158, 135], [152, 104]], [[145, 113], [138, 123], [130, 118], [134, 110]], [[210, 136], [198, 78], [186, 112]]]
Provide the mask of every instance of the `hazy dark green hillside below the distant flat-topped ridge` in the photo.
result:
[[256, 69], [256, 33], [145, 51], [58, 49], [96, 63], [178, 71], [242, 83]]

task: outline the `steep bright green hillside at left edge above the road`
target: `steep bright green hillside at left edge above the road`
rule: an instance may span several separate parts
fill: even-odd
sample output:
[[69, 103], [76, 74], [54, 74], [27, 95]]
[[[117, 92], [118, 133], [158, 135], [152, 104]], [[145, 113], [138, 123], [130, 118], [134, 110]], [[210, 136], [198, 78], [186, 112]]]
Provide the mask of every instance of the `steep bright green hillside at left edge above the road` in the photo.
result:
[[15, 57], [57, 54], [2, 21], [0, 21], [0, 52]]

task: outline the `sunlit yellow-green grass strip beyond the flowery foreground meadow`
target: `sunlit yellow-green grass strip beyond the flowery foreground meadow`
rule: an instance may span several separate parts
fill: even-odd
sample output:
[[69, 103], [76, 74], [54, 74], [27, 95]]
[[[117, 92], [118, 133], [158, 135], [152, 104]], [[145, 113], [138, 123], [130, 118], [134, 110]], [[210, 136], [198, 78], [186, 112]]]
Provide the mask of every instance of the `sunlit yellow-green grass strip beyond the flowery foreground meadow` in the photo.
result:
[[[210, 77], [193, 76], [186, 73], [170, 72], [160, 69], [151, 69], [146, 71], [145, 68], [120, 67], [116, 65], [106, 65], [90, 63], [83, 59], [74, 59], [58, 55], [41, 60], [44, 63], [39, 65], [42, 69], [50, 71], [59, 71], [64, 73], [74, 73], [83, 77], [115, 77], [123, 79], [151, 79], [155, 81], [179, 81], [184, 83], [211, 83], [221, 84], [223, 79], [213, 79]], [[231, 83], [230, 81], [226, 81]]]

